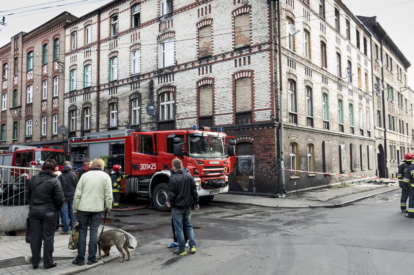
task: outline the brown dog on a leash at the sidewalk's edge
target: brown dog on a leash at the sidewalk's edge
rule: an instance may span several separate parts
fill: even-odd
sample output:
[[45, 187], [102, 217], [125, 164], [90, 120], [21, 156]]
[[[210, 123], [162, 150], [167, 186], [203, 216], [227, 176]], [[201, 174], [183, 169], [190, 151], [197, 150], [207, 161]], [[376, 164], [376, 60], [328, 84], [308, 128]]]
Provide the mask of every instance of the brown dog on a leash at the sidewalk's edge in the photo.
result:
[[128, 235], [124, 232], [120, 232], [117, 230], [108, 230], [103, 232], [102, 234], [99, 234], [98, 236], [98, 251], [99, 251], [99, 259], [101, 259], [101, 249], [104, 251], [104, 255], [102, 257], [106, 257], [109, 255], [109, 250], [111, 249], [111, 246], [115, 245], [119, 252], [121, 252], [122, 260], [119, 262], [122, 263], [125, 259], [125, 253], [122, 250], [125, 249], [127, 251], [128, 259], [130, 260], [130, 253], [128, 251], [128, 247], [131, 249], [134, 249], [129, 243]]

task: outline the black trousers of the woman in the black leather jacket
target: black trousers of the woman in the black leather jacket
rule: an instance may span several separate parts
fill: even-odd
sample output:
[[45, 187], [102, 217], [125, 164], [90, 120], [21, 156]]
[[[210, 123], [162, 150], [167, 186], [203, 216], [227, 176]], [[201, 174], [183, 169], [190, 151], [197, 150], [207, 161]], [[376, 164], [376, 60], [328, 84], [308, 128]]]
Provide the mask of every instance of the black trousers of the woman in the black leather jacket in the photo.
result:
[[32, 250], [32, 265], [40, 263], [40, 252], [43, 241], [43, 267], [53, 265], [53, 244], [55, 238], [56, 222], [59, 211], [53, 210], [29, 210], [29, 222], [31, 228], [30, 249]]

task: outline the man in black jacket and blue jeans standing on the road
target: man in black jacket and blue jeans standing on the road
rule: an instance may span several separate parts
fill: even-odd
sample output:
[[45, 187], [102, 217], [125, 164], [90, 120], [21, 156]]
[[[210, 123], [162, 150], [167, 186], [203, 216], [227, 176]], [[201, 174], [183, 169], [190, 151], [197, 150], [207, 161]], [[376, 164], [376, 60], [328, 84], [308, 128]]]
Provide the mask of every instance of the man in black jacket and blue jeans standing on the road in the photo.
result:
[[196, 252], [196, 241], [194, 238], [193, 225], [191, 223], [191, 202], [194, 203], [194, 209], [200, 209], [198, 204], [198, 193], [196, 183], [190, 173], [184, 173], [182, 162], [178, 158], [173, 159], [174, 177], [170, 178], [168, 184], [167, 206], [172, 207], [173, 222], [175, 227], [175, 236], [178, 241], [178, 249], [173, 251], [174, 255], [187, 255], [185, 249], [185, 240], [183, 227], [187, 231], [188, 244], [190, 252]]

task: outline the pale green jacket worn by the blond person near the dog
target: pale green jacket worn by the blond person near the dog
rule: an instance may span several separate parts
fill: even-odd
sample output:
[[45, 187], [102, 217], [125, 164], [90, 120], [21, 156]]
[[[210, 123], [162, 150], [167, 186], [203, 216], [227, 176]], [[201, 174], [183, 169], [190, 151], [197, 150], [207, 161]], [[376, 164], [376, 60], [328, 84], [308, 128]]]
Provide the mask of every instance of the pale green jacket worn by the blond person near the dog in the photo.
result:
[[111, 178], [99, 168], [93, 168], [80, 178], [73, 197], [73, 213], [101, 212], [112, 207]]

